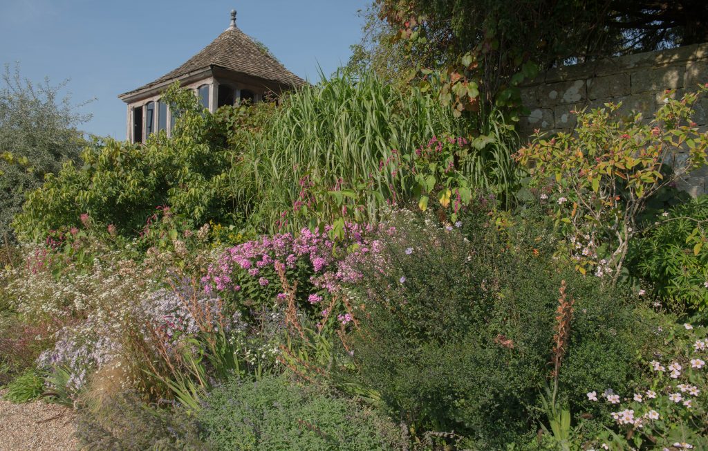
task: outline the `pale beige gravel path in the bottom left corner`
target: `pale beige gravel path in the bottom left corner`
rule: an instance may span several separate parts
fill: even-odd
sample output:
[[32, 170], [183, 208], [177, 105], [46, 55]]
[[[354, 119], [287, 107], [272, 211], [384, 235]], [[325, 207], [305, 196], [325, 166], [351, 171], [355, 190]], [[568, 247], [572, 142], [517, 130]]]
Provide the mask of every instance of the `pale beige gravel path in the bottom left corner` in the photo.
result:
[[0, 399], [0, 451], [77, 448], [72, 409], [42, 401], [13, 404]]

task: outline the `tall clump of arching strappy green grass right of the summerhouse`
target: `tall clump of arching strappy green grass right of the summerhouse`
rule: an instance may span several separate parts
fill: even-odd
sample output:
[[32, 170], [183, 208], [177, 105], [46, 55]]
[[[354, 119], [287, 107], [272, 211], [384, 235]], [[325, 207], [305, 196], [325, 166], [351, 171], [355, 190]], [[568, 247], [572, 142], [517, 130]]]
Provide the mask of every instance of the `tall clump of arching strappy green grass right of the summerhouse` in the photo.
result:
[[[257, 200], [250, 220], [267, 232], [341, 217], [370, 222], [389, 202], [418, 202], [411, 161], [430, 139], [444, 137], [464, 139], [464, 152], [452, 162], [464, 185], [509, 190], [515, 182], [513, 127], [490, 114], [471, 129], [421, 89], [401, 91], [376, 76], [338, 74], [285, 98], [267, 132], [246, 141], [232, 189]], [[426, 175], [447, 163], [429, 161]], [[429, 183], [436, 193], [447, 188], [444, 177]]]

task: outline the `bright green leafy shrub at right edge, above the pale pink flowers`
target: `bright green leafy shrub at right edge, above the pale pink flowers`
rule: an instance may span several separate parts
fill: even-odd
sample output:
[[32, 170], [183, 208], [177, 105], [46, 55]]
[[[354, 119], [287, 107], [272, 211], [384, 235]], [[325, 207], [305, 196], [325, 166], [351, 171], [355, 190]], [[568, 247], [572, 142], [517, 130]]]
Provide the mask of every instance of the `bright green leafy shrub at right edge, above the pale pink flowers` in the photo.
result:
[[653, 217], [630, 246], [630, 274], [649, 282], [669, 309], [702, 311], [708, 307], [708, 248], [702, 224], [708, 219], [708, 196], [688, 200]]

